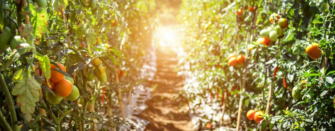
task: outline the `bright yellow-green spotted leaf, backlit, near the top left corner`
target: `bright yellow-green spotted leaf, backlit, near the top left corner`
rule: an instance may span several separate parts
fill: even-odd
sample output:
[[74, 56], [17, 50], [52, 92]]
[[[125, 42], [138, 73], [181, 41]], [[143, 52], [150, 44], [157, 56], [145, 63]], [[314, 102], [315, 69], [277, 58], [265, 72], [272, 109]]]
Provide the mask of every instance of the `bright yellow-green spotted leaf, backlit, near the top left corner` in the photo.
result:
[[48, 13], [44, 8], [35, 9], [34, 5], [29, 4], [31, 11], [31, 23], [33, 27], [34, 36], [36, 39], [41, 39], [48, 27]]

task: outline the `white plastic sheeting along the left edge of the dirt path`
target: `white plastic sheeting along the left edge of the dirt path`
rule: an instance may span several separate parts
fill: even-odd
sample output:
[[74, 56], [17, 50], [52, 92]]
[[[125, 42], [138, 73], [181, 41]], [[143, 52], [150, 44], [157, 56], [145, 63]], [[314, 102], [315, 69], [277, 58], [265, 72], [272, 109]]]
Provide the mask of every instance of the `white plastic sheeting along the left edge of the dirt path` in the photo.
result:
[[[140, 69], [140, 79], [145, 81], [152, 81], [157, 72], [157, 56], [156, 48], [152, 47], [149, 49], [149, 53], [144, 56], [144, 59], [150, 60], [148, 63], [144, 63]], [[150, 94], [151, 88], [147, 87], [145, 83], [142, 83], [134, 87], [134, 94], [130, 96], [130, 103], [127, 101], [127, 97], [124, 97], [124, 113], [125, 120], [134, 124], [133, 131], [144, 131], [145, 127], [149, 124], [149, 121], [138, 118], [134, 115], [139, 115], [144, 111], [148, 106], [145, 104], [145, 101], [152, 98]], [[119, 114], [121, 116], [121, 114]], [[132, 129], [128, 126], [120, 126], [120, 131], [126, 131], [127, 129]]]

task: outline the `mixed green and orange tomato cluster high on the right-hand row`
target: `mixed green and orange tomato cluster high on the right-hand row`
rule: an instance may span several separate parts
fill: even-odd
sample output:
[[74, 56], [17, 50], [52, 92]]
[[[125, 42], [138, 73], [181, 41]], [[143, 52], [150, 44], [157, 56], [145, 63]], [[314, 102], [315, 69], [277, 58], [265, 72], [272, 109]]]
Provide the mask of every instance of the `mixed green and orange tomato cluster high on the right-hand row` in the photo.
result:
[[283, 29], [287, 28], [288, 21], [285, 18], [280, 18], [277, 13], [271, 14], [269, 20], [270, 23], [274, 24], [259, 32], [262, 37], [257, 39], [257, 44], [270, 46], [271, 41], [277, 41], [279, 37], [284, 35]]

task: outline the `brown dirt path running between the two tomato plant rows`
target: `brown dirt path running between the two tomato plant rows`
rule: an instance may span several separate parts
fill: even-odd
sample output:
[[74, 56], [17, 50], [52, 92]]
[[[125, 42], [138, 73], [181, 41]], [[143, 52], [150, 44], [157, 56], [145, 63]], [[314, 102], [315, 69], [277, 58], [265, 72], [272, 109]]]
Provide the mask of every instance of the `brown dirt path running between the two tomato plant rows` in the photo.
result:
[[150, 123], [145, 131], [194, 131], [186, 105], [178, 101], [179, 91], [183, 86], [183, 78], [177, 76], [177, 54], [165, 54], [157, 50], [157, 73], [152, 86], [152, 99], [145, 102], [148, 108], [138, 117]]

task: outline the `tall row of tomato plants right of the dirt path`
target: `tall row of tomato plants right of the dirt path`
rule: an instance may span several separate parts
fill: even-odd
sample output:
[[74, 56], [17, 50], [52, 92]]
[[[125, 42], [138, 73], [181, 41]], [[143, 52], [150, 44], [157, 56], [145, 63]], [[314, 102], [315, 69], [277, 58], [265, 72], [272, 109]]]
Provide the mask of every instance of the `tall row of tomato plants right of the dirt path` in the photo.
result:
[[197, 130], [334, 130], [334, 0], [183, 0], [178, 19]]

